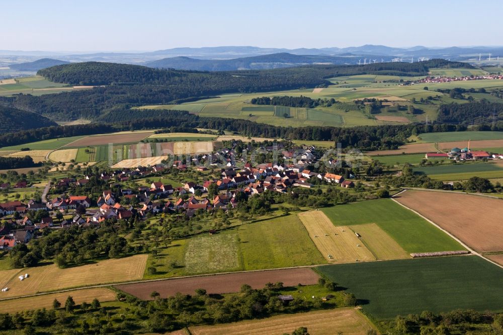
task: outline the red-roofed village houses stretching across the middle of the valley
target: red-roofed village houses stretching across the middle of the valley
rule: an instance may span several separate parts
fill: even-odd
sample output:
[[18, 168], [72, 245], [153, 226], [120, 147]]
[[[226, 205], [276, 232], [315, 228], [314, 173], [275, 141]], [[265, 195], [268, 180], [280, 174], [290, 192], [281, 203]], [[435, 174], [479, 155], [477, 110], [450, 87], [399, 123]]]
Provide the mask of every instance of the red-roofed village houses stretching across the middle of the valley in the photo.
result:
[[[272, 150], [270, 147], [265, 149]], [[110, 189], [103, 191], [97, 199], [90, 199], [87, 195], [71, 194], [75, 187], [85, 186], [95, 176], [60, 179], [51, 186], [52, 189], [68, 191], [47, 199], [46, 202], [30, 200], [27, 203], [21, 201], [0, 203], [0, 216], [7, 218], [10, 223], [3, 225], [0, 230], [0, 249], [11, 249], [18, 243], [27, 243], [37, 232], [44, 229], [65, 229], [71, 226], [99, 227], [101, 222], [107, 219], [128, 221], [133, 217], [144, 219], [158, 213], [176, 213], [191, 218], [196, 216], [198, 211], [231, 210], [237, 206], [236, 196], [244, 194], [246, 197], [253, 197], [263, 192], [286, 193], [289, 188], [311, 188], [313, 180], [316, 180], [316, 183], [339, 185], [343, 188], [355, 186], [352, 181], [345, 180], [341, 175], [315, 173], [304, 169], [316, 161], [314, 146], [305, 147], [300, 151], [284, 150], [281, 154], [285, 161], [291, 164], [269, 162], [253, 166], [243, 159], [242, 167], [236, 168], [231, 164], [235, 152], [221, 149], [205, 157], [212, 161], [209, 164], [210, 169], [214, 169], [212, 164], [217, 165], [216, 155], [223, 156], [228, 161], [228, 166], [219, 168], [219, 178], [207, 179], [201, 184], [187, 182], [181, 187], [152, 182], [149, 186], [130, 189], [123, 187], [122, 183], [158, 176], [159, 173], [172, 167], [181, 171], [187, 170], [187, 164], [182, 161], [174, 161], [172, 166], [158, 164], [102, 172], [98, 178], [106, 182]], [[215, 157], [208, 157], [211, 155]], [[328, 159], [328, 164], [335, 162], [334, 159]], [[189, 165], [189, 167], [200, 172], [209, 169], [207, 166]], [[354, 176], [350, 176], [352, 177]], [[4, 184], [2, 187], [9, 188], [10, 185]], [[24, 188], [27, 184], [19, 182], [14, 187]], [[112, 189], [120, 191], [114, 195]], [[116, 201], [116, 196], [123, 199], [123, 204]], [[36, 213], [42, 210], [48, 215], [38, 217]], [[27, 215], [28, 213], [31, 215]], [[64, 218], [69, 216], [71, 218]], [[34, 217], [37, 219], [34, 220]]]

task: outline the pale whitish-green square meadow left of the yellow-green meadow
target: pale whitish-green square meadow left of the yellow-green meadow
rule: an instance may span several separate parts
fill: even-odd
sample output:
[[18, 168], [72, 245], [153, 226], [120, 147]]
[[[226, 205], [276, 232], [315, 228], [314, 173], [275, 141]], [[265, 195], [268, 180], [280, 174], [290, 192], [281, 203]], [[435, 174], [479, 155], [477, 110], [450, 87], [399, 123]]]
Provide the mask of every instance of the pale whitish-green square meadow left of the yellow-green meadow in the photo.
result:
[[240, 268], [235, 232], [198, 236], [187, 241], [185, 250], [187, 274], [237, 271]]

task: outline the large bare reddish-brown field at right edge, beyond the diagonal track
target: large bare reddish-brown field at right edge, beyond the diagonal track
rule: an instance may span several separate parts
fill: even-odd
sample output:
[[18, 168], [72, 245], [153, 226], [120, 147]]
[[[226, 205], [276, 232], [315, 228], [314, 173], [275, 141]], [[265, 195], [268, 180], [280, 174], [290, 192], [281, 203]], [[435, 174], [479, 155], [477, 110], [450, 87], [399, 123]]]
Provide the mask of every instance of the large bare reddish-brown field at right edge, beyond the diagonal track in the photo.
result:
[[503, 200], [448, 192], [409, 190], [395, 198], [477, 252], [503, 251]]

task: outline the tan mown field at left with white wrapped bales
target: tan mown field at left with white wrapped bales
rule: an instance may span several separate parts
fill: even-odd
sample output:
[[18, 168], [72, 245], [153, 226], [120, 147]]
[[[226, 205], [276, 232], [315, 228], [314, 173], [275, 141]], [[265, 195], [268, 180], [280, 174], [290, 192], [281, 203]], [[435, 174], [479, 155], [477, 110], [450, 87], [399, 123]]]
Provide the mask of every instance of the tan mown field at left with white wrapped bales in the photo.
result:
[[24, 281], [17, 277], [9, 281], [9, 291], [2, 297], [16, 297], [38, 292], [49, 292], [83, 285], [139, 280], [143, 277], [148, 255], [106, 260], [96, 264], [59, 269], [55, 264], [23, 269], [30, 275]]

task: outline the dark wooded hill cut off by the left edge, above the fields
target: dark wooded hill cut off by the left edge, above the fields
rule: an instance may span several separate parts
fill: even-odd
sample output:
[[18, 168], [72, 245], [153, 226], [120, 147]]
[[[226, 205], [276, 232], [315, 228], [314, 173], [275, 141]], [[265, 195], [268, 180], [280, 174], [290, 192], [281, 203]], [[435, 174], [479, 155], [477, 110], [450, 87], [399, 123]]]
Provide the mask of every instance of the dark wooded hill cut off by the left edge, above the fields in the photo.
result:
[[37, 113], [0, 105], [0, 133], [57, 126], [45, 116]]

